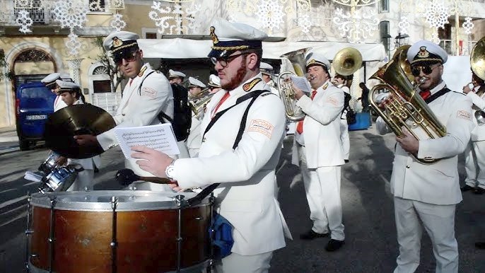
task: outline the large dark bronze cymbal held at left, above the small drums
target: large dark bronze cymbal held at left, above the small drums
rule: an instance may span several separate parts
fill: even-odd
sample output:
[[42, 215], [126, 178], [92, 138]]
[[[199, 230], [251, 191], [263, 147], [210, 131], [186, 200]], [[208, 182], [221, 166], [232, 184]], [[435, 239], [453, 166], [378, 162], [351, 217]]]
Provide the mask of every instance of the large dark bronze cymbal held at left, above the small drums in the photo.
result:
[[103, 153], [101, 146], [79, 146], [78, 134], [98, 135], [116, 126], [113, 117], [95, 105], [70, 105], [53, 112], [45, 122], [45, 146], [66, 158], [90, 158]]

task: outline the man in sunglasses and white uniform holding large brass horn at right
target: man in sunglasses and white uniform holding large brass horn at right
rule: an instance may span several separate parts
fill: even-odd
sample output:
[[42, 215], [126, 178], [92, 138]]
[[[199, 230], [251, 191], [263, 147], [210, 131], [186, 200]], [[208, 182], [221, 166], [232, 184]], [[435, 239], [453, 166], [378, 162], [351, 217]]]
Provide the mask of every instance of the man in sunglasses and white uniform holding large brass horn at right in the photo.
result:
[[[448, 54], [440, 46], [421, 40], [409, 47], [407, 59], [414, 81], [421, 82], [419, 95], [446, 127], [446, 135], [430, 138], [407, 121], [419, 140], [404, 127], [404, 136], [396, 137], [390, 182], [399, 243], [394, 272], [414, 272], [419, 266], [423, 227], [431, 238], [436, 272], [458, 272], [455, 209], [462, 194], [457, 163], [474, 127], [472, 100], [446, 87], [441, 77]], [[391, 132], [381, 117], [376, 127], [380, 134]], [[439, 161], [423, 164], [416, 158]]]

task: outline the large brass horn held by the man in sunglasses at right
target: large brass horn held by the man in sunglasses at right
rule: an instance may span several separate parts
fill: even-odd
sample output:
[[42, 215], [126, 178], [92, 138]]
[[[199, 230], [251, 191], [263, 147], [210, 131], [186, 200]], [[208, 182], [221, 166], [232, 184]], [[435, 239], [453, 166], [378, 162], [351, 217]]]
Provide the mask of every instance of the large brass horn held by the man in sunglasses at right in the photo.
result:
[[[383, 83], [374, 86], [369, 92], [369, 103], [398, 137], [404, 136], [401, 127], [405, 127], [419, 140], [407, 121], [411, 122], [413, 127], [421, 127], [432, 139], [443, 137], [446, 135], [446, 128], [419, 95], [418, 87], [420, 83], [413, 85], [410, 81], [411, 66], [406, 59], [409, 47], [409, 45], [399, 47], [392, 60], [380, 67], [373, 76], [370, 76], [370, 79], [378, 79]], [[380, 89], [387, 89], [392, 94], [385, 103], [385, 110], [381, 110], [374, 100], [374, 93]], [[416, 156], [414, 157], [416, 158]], [[416, 158], [416, 160], [423, 164], [432, 164], [439, 161], [439, 159], [422, 158]]]

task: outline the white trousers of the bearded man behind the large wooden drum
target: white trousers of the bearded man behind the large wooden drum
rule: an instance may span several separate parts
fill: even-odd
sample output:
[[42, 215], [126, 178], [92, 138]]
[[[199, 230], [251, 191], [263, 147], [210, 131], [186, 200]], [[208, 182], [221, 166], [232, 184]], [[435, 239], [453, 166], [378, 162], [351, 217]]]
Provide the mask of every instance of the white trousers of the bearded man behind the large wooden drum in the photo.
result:
[[269, 262], [273, 257], [273, 252], [264, 252], [257, 255], [239, 255], [230, 253], [221, 261], [216, 262], [217, 273], [267, 273]]

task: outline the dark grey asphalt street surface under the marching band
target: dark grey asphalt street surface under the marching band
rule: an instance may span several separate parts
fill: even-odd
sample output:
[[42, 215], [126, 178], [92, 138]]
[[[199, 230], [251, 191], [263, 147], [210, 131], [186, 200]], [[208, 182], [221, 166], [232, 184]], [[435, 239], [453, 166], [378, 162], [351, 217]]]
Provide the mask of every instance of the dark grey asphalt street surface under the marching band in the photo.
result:
[[[277, 178], [279, 202], [293, 234], [286, 248], [277, 250], [270, 272], [392, 272], [398, 254], [389, 180], [395, 138], [379, 136], [371, 127], [350, 132], [350, 162], [342, 168], [341, 199], [346, 240], [337, 252], [326, 252], [328, 238], [300, 240], [311, 228], [308, 204], [299, 169], [291, 165], [292, 137], [285, 139]], [[47, 149], [18, 151], [15, 132], [0, 131], [0, 272], [23, 272], [25, 261], [26, 193], [37, 184], [23, 179], [47, 158]], [[10, 138], [10, 139], [9, 139]], [[5, 148], [8, 147], [8, 148]], [[101, 156], [103, 166], [95, 174], [95, 190], [119, 190], [117, 170], [124, 168], [122, 152], [115, 148]], [[460, 180], [464, 178], [460, 156]], [[460, 248], [460, 272], [485, 272], [485, 250], [474, 242], [485, 240], [484, 195], [464, 193], [457, 206], [456, 237]], [[271, 232], [271, 231], [265, 231]], [[416, 272], [434, 272], [431, 243], [423, 233], [421, 265]]]

